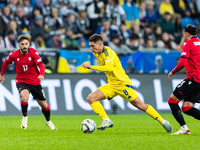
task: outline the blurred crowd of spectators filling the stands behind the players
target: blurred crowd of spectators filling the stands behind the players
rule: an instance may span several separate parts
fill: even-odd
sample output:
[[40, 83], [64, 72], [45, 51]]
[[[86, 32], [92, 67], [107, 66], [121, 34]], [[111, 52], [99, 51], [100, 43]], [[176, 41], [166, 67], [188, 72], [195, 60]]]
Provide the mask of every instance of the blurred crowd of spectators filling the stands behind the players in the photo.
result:
[[181, 49], [182, 30], [199, 27], [200, 0], [0, 0], [0, 48], [80, 50], [101, 34], [118, 53], [143, 48]]

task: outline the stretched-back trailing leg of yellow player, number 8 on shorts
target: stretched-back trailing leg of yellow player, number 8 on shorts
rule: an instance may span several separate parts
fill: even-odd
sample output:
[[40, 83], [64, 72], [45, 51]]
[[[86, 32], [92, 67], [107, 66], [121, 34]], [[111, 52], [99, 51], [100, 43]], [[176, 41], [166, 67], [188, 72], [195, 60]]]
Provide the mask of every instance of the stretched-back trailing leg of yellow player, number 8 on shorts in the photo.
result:
[[153, 119], [161, 123], [167, 132], [172, 132], [169, 122], [164, 120], [151, 105], [143, 103], [132, 86], [126, 85], [122, 88], [123, 90], [118, 91], [118, 94], [121, 97], [123, 97], [125, 100], [128, 100], [133, 106], [146, 112]]

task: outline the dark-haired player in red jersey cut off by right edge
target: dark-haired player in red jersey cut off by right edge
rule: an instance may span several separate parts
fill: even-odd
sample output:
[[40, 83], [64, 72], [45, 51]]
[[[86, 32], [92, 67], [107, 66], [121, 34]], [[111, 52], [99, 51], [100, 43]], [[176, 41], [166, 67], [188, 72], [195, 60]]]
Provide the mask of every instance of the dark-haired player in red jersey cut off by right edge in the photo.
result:
[[186, 79], [177, 85], [168, 100], [172, 114], [181, 126], [179, 131], [172, 134], [190, 134], [178, 105], [181, 100], [184, 99], [182, 111], [200, 120], [200, 111], [193, 107], [194, 103], [200, 102], [200, 40], [197, 38], [197, 32], [197, 28], [193, 25], [184, 28], [183, 35], [186, 41], [182, 45], [180, 62], [168, 74], [171, 80], [172, 75], [183, 67], [186, 68]]

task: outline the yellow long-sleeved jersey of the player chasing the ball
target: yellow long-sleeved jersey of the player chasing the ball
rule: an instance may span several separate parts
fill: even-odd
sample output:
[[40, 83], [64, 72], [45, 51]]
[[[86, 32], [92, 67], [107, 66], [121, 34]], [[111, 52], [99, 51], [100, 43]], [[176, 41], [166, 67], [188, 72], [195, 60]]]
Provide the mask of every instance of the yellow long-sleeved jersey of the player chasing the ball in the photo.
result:
[[104, 46], [101, 54], [93, 53], [93, 55], [97, 58], [100, 66], [92, 66], [92, 69], [104, 72], [111, 86], [132, 85], [117, 54], [111, 48]]

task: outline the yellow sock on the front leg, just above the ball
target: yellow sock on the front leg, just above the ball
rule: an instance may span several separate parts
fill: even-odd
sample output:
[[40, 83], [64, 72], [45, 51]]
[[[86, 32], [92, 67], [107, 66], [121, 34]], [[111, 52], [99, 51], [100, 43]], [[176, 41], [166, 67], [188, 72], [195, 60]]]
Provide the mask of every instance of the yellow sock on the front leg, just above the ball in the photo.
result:
[[101, 117], [103, 120], [108, 118], [105, 110], [103, 109], [103, 106], [101, 105], [101, 103], [99, 101], [96, 101], [94, 103], [92, 103], [90, 105], [92, 107], [92, 109], [94, 110], [94, 112]]

